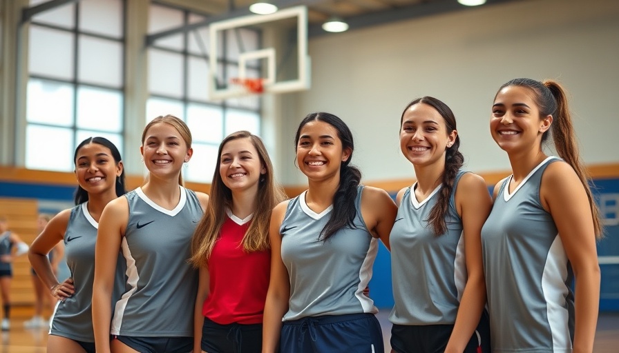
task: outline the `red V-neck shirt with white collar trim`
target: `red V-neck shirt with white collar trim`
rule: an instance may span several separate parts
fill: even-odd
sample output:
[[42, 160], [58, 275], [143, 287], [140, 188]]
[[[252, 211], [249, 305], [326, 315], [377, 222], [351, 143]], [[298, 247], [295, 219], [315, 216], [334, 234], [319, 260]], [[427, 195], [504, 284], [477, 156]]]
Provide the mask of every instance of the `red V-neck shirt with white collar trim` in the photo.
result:
[[220, 325], [262, 323], [271, 252], [245, 252], [242, 239], [251, 216], [241, 220], [229, 215], [209, 259], [209, 296], [202, 305], [202, 315]]

